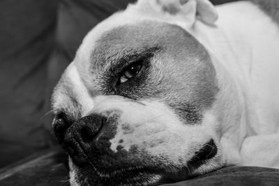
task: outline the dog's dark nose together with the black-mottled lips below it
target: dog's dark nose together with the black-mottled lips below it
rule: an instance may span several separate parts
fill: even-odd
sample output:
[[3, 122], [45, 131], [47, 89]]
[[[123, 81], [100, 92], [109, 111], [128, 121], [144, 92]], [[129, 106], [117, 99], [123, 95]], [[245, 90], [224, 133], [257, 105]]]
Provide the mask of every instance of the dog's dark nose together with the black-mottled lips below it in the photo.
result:
[[118, 114], [91, 114], [75, 121], [66, 130], [62, 145], [78, 169], [90, 170], [91, 184], [114, 182], [121, 185], [123, 180], [143, 182], [139, 179], [147, 179], [147, 173], [153, 174], [151, 167], [144, 165], [136, 147], [123, 150], [119, 146], [116, 152], [111, 150], [110, 140], [116, 132], [117, 118]]

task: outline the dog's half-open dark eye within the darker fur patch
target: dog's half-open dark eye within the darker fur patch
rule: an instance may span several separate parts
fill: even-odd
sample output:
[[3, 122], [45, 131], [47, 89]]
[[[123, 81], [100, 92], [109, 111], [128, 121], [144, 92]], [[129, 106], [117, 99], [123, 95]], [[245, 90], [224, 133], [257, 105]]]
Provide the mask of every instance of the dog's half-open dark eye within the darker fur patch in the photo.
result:
[[142, 61], [137, 61], [131, 65], [128, 65], [121, 72], [120, 83], [127, 82], [128, 79], [135, 77], [140, 70], [142, 70]]

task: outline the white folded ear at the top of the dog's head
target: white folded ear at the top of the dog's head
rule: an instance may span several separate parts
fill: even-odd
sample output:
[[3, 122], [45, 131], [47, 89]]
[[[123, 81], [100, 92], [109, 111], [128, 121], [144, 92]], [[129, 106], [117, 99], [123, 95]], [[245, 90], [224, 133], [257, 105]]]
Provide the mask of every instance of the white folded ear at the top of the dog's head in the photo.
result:
[[197, 19], [206, 24], [214, 24], [218, 13], [209, 0], [139, 0], [149, 1], [157, 13], [172, 22], [179, 22], [187, 29], [193, 26]]

